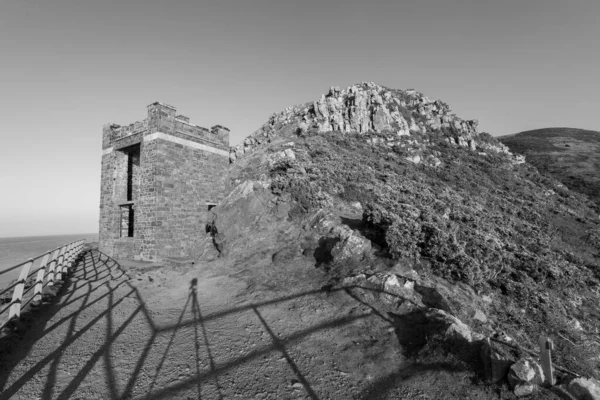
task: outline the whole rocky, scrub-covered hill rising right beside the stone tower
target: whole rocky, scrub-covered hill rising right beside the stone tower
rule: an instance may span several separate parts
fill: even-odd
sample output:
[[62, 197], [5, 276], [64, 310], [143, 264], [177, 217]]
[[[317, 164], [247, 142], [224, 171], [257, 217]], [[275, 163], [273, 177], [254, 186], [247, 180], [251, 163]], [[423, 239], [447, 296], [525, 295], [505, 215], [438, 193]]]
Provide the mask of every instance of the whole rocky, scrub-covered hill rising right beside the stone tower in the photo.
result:
[[[431, 398], [588, 398], [577, 393], [600, 378], [599, 209], [450, 110], [361, 83], [273, 115], [231, 149], [233, 190], [197, 258], [265, 293], [348, 294], [396, 336], [366, 324], [370, 348], [432, 366]], [[555, 343], [552, 390], [540, 334]], [[386, 360], [378, 368], [396, 368]], [[402, 376], [374, 377], [384, 386], [365, 398], [399, 396]]]

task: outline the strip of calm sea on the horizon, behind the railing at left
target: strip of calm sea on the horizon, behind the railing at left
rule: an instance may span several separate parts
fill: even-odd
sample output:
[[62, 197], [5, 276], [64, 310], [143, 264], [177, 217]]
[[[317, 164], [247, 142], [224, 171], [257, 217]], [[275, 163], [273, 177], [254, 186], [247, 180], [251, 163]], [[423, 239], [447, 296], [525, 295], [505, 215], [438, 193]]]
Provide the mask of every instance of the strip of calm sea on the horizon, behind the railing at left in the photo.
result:
[[[4, 274], [2, 271], [80, 239], [85, 239], [88, 243], [97, 242], [98, 233], [0, 238], [0, 288], [8, 286], [10, 282], [17, 279], [21, 268]], [[36, 268], [38, 263], [34, 263], [33, 267]]]

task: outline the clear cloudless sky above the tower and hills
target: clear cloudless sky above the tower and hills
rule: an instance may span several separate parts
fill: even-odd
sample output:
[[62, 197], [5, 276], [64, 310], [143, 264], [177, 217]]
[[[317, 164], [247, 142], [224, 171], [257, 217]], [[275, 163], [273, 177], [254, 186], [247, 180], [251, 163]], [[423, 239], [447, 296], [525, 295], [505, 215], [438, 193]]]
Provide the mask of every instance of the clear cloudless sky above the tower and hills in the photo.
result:
[[0, 237], [97, 232], [102, 125], [155, 101], [232, 145], [362, 81], [600, 130], [598, 38], [598, 0], [0, 0]]

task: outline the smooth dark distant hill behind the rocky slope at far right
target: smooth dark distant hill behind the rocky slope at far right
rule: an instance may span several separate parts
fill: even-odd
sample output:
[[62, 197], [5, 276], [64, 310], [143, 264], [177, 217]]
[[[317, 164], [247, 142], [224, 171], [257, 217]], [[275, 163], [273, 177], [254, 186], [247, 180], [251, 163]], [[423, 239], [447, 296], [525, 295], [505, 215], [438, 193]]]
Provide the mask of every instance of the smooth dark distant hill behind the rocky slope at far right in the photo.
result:
[[524, 155], [540, 172], [586, 194], [600, 206], [600, 132], [544, 128], [498, 140], [513, 153]]

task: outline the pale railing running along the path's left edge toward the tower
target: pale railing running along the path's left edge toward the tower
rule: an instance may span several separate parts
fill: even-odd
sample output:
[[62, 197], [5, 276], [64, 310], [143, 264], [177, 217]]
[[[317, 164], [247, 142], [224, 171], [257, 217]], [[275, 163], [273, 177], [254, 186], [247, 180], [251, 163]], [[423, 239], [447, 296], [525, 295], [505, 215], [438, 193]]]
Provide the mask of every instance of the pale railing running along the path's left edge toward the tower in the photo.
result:
[[[84, 239], [77, 240], [0, 271], [2, 276], [21, 268], [19, 278], [8, 287], [0, 289], [0, 302], [3, 301], [0, 305], [0, 330], [9, 322], [18, 320], [21, 311], [30, 303], [41, 303], [44, 288], [62, 281], [63, 274], [69, 271], [81, 254], [84, 243]], [[9, 302], [11, 290], [12, 297]], [[5, 305], [6, 303], [8, 304]]]

